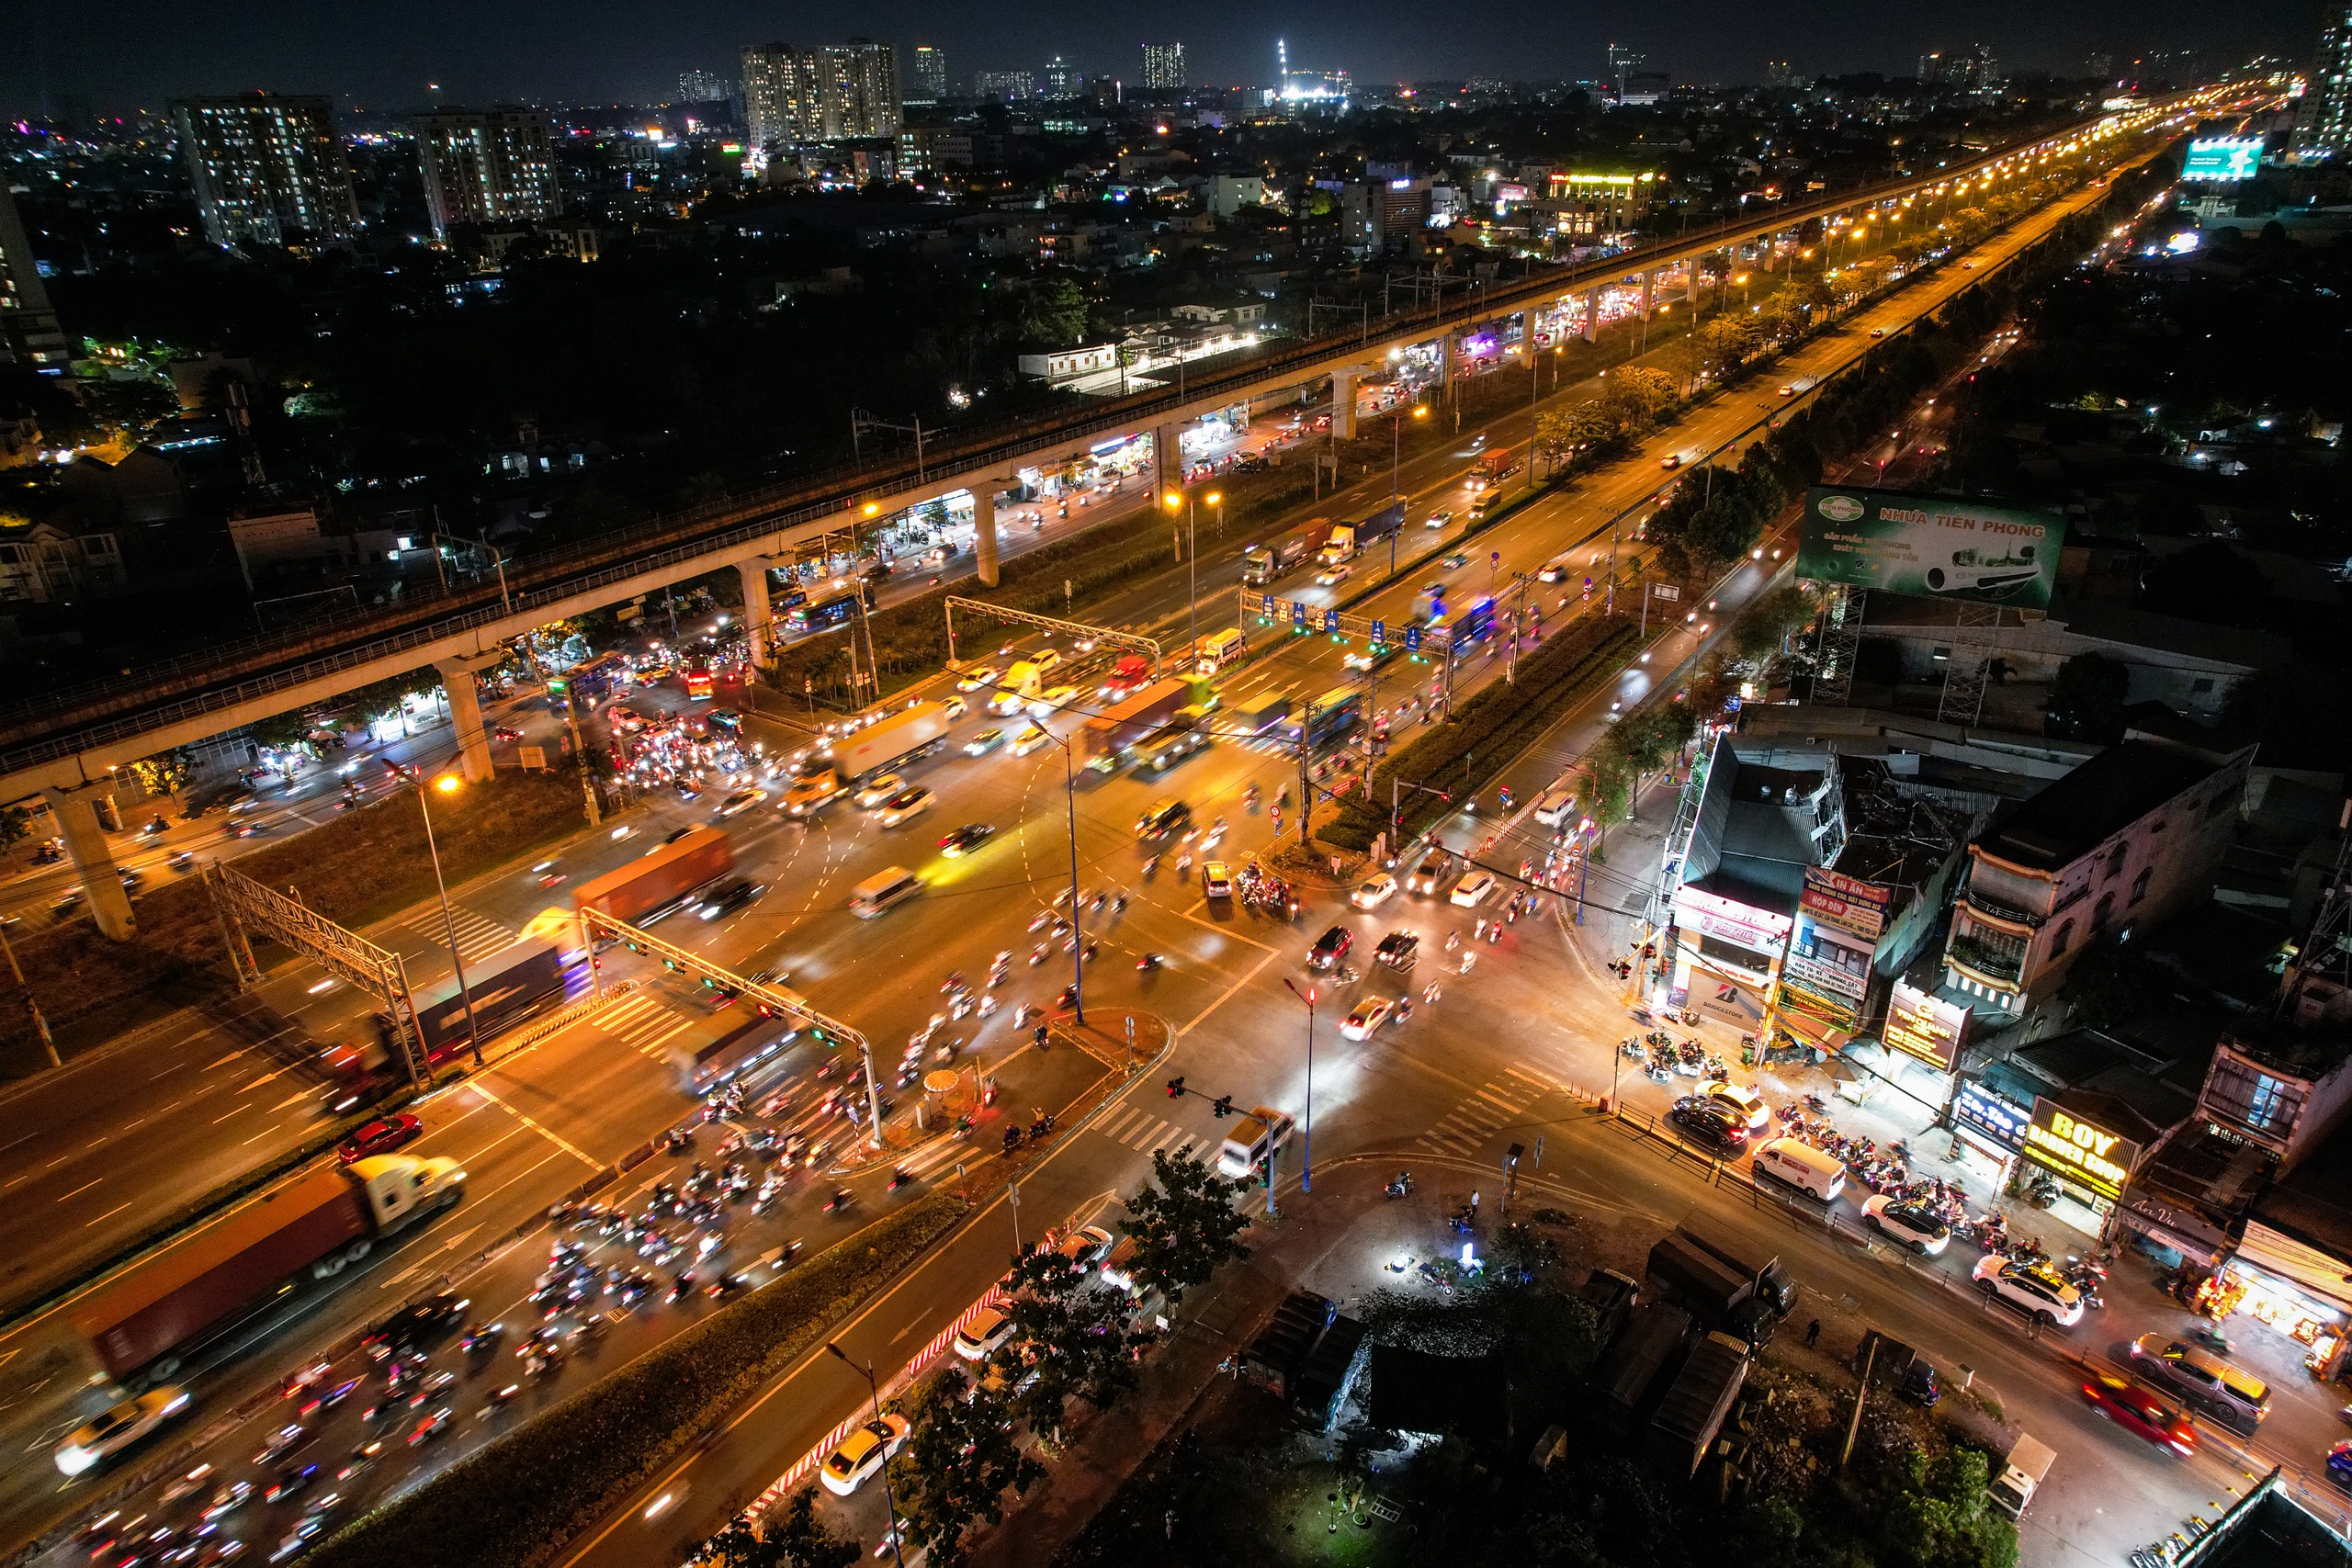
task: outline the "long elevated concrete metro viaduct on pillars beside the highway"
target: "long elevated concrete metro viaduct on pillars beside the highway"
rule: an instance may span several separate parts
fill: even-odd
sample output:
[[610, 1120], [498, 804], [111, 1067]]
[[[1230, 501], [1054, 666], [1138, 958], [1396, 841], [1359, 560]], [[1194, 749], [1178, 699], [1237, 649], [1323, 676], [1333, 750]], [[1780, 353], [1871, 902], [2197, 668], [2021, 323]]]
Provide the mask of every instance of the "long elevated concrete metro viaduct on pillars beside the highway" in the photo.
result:
[[[1813, 221], [1900, 209], [1922, 195], [1957, 197], [1966, 186], [1992, 190], [2051, 160], [2070, 155], [2122, 155], [2131, 141], [2173, 125], [2201, 101], [2166, 101], [2133, 113], [2103, 115], [2025, 146], [1985, 153], [1971, 162], [1912, 179], [1846, 190], [1811, 205], [1783, 205], [1750, 221], [1661, 240], [1618, 256], [1548, 268], [1515, 282], [1479, 287], [1468, 306], [1435, 306], [1411, 315], [1364, 322], [1338, 334], [1265, 348], [1232, 369], [1190, 383], [1181, 393], [1157, 390], [1112, 404], [1080, 409], [995, 440], [974, 440], [927, 454], [920, 470], [861, 475], [851, 484], [809, 482], [762, 496], [696, 508], [680, 517], [588, 541], [579, 550], [515, 562], [508, 583], [426, 597], [423, 604], [372, 616], [358, 625], [252, 639], [209, 649], [186, 661], [151, 665], [143, 677], [64, 691], [0, 712], [0, 799], [47, 795], [82, 872], [99, 929], [113, 938], [134, 933], [129, 898], [115, 877], [113, 856], [99, 825], [99, 802], [134, 792], [129, 762], [174, 745], [193, 745], [280, 712], [332, 703], [376, 679], [433, 665], [449, 689], [454, 733], [468, 778], [489, 773], [489, 736], [473, 672], [496, 663], [510, 642], [536, 625], [652, 595], [670, 583], [734, 567], [743, 576], [743, 618], [753, 637], [753, 661], [764, 663], [774, 616], [769, 569], [788, 564], [800, 548], [844, 534], [873, 517], [936, 501], [955, 491], [974, 496], [978, 578], [995, 585], [997, 496], [1021, 468], [1051, 468], [1110, 435], [1150, 433], [1155, 454], [1176, 447], [1176, 433], [1237, 402], [1291, 400], [1322, 381], [1331, 386], [1336, 435], [1355, 433], [1355, 383], [1385, 362], [1390, 348], [1444, 341], [1451, 371], [1456, 341], [1489, 322], [1529, 317], [1581, 303], [1581, 331], [1599, 324], [1604, 289], [1637, 282], [1642, 313], [1661, 284], [1682, 282], [1698, 299], [1703, 263], [1722, 254], [1722, 270], [1755, 263], [1773, 270], [1795, 249], [1799, 230]], [[2126, 141], [2131, 139], [2131, 141]], [[1924, 221], [1924, 219], [1922, 219]], [[1352, 339], [1352, 341], [1350, 341]], [[1531, 334], [1529, 334], [1531, 339]], [[405, 623], [402, 623], [405, 621]]]

